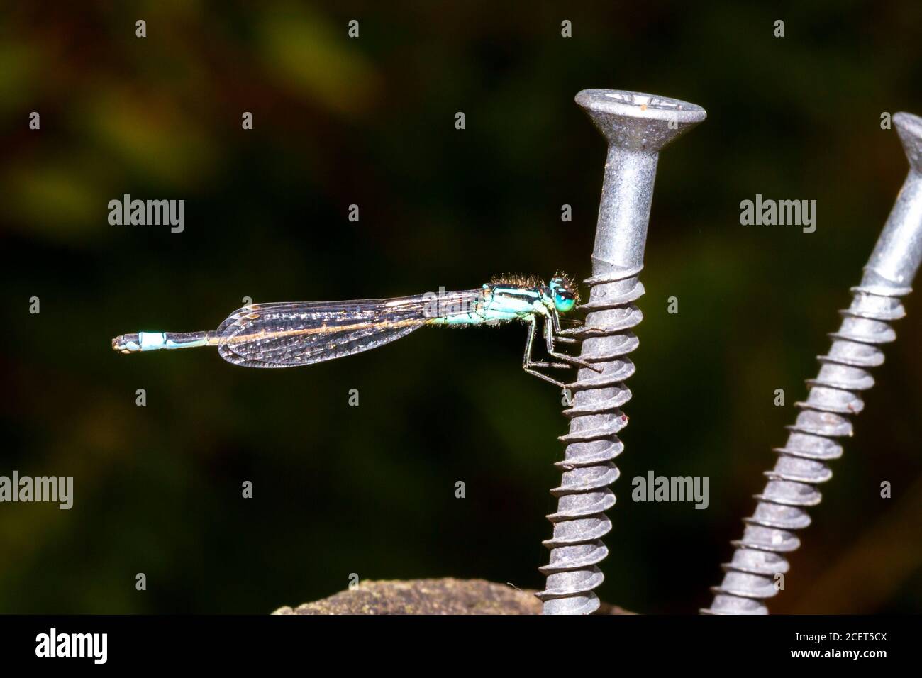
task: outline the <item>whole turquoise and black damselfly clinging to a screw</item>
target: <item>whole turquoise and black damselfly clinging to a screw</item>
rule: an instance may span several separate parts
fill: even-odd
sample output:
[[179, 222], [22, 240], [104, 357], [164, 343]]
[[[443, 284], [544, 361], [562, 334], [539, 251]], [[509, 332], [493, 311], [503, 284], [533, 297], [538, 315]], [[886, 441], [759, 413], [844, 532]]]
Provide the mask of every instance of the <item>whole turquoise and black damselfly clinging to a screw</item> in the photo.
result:
[[[561, 336], [560, 315], [572, 311], [578, 301], [573, 284], [558, 275], [548, 285], [516, 277], [492, 280], [476, 290], [427, 292], [395, 299], [251, 303], [234, 311], [214, 331], [124, 334], [112, 339], [112, 349], [135, 353], [217, 346], [229, 363], [294, 367], [376, 349], [424, 325], [465, 327], [518, 320], [528, 326], [522, 367], [530, 375], [564, 387], [535, 368], [579, 365], [597, 369], [556, 350], [556, 341], [575, 341]], [[548, 355], [560, 362], [532, 359], [539, 320]]]

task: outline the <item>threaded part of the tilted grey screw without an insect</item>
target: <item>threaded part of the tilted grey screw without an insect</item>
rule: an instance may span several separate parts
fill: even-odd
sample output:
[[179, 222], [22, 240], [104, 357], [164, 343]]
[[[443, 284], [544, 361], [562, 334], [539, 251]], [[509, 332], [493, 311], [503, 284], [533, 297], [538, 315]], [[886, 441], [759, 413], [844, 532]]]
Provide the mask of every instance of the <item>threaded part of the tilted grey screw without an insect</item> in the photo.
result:
[[820, 374], [807, 381], [807, 400], [796, 403], [797, 421], [787, 426], [786, 445], [774, 450], [779, 457], [755, 495], [755, 513], [743, 519], [742, 539], [732, 542], [733, 558], [721, 565], [724, 580], [702, 613], [767, 614], [763, 601], [778, 592], [774, 577], [787, 572], [786, 553], [800, 546], [794, 530], [810, 525], [806, 509], [822, 500], [818, 486], [833, 475], [826, 462], [842, 456], [837, 439], [852, 434], [848, 417], [864, 408], [860, 393], [874, 386], [869, 370], [883, 363], [881, 344], [896, 339], [889, 323], [904, 317], [899, 297], [911, 290], [877, 284], [851, 291], [851, 305], [839, 312], [842, 325], [830, 335], [832, 348], [818, 356]]

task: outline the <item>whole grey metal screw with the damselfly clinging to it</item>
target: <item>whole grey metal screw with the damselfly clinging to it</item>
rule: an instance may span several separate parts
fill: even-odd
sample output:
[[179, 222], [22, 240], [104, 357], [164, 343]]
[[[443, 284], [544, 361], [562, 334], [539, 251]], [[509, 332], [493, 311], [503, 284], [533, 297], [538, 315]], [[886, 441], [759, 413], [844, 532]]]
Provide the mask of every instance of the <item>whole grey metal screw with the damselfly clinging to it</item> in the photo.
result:
[[602, 368], [581, 369], [571, 407], [563, 411], [570, 432], [557, 511], [548, 516], [553, 536], [544, 544], [550, 564], [539, 568], [547, 575], [545, 614], [588, 614], [598, 608], [593, 589], [602, 583], [598, 564], [608, 555], [601, 537], [611, 523], [603, 513], [615, 504], [609, 484], [619, 471], [612, 460], [623, 446], [618, 433], [627, 423], [620, 408], [631, 399], [624, 380], [634, 372], [626, 355], [637, 348], [632, 333], [643, 319], [633, 304], [644, 294], [638, 275], [644, 268], [644, 245], [659, 151], [707, 116], [692, 103], [638, 92], [585, 89], [578, 103], [608, 139], [602, 199], [598, 208], [596, 244], [592, 254], [589, 314], [585, 326], [570, 331], [582, 339], [580, 357]]

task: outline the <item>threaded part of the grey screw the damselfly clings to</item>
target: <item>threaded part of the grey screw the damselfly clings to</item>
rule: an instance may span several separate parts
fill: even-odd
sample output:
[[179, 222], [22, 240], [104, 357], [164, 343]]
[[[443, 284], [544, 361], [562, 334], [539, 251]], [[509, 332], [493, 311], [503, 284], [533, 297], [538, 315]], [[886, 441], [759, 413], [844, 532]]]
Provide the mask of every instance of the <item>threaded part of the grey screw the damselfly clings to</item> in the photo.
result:
[[639, 272], [636, 268], [585, 280], [590, 294], [582, 308], [589, 313], [573, 337], [582, 339], [580, 357], [602, 371], [581, 369], [569, 385], [571, 404], [563, 410], [570, 430], [559, 438], [566, 443], [563, 460], [555, 464], [562, 471], [561, 484], [550, 491], [557, 497], [557, 511], [548, 516], [553, 536], [543, 542], [550, 549], [550, 562], [539, 568], [547, 575], [545, 589], [537, 594], [545, 614], [598, 609], [594, 589], [605, 578], [598, 564], [609, 554], [601, 538], [611, 529], [605, 511], [615, 505], [609, 485], [620, 474], [613, 460], [624, 449], [618, 434], [628, 422], [621, 406], [631, 399], [624, 381], [634, 373], [626, 356], [637, 348], [632, 327], [644, 318], [634, 305], [644, 294]]

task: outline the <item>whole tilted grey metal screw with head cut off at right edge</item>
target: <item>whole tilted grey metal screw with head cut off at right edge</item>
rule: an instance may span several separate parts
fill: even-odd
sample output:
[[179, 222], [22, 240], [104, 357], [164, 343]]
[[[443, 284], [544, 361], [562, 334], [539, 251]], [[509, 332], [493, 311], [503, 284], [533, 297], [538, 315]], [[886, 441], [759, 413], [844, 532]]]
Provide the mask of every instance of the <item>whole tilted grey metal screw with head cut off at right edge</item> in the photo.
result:
[[905, 313], [899, 297], [908, 294], [922, 260], [922, 118], [893, 115], [893, 124], [909, 158], [909, 175], [896, 198], [881, 237], [874, 246], [861, 284], [852, 288], [852, 303], [830, 335], [832, 349], [820, 356], [820, 375], [807, 382], [806, 402], [796, 403], [797, 422], [746, 529], [734, 541], [733, 559], [722, 565], [724, 580], [711, 589], [714, 601], [705, 614], [767, 614], [763, 602], [777, 593], [774, 577], [786, 573], [786, 553], [798, 549], [792, 530], [810, 525], [806, 508], [820, 503], [816, 485], [832, 477], [826, 462], [842, 456], [836, 438], [852, 434], [848, 415], [864, 407], [859, 393], [874, 386], [869, 369], [883, 363], [881, 344], [896, 339], [888, 324]]

